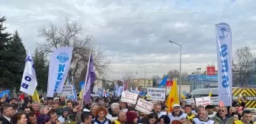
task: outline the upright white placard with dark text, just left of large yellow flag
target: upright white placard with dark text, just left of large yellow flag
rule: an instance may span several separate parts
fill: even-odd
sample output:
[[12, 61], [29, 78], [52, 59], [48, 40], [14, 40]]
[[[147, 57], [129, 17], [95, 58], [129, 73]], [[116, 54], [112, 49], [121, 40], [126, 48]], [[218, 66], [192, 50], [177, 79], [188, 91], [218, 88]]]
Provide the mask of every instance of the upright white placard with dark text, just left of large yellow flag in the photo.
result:
[[165, 101], [165, 88], [148, 88], [147, 99], [153, 101]]

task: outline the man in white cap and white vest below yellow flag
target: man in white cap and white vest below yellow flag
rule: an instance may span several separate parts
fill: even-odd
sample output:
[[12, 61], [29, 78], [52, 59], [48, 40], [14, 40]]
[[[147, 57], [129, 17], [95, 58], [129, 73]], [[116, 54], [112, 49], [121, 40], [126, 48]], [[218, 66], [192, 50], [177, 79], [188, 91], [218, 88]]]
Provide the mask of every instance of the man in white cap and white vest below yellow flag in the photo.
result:
[[174, 107], [173, 111], [171, 113], [168, 113], [168, 116], [169, 116], [171, 121], [180, 120], [182, 118], [187, 117], [187, 114], [183, 113], [181, 111], [181, 106], [179, 104], [174, 104], [173, 107]]

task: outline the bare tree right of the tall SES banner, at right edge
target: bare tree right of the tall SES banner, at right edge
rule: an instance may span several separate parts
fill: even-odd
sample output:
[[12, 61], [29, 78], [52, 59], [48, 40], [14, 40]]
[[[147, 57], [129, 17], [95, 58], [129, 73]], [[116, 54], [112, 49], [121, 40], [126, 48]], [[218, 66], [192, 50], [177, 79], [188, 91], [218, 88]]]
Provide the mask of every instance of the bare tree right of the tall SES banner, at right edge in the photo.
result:
[[249, 47], [238, 48], [232, 54], [232, 75], [233, 82], [242, 84], [255, 79], [255, 55], [251, 53]]

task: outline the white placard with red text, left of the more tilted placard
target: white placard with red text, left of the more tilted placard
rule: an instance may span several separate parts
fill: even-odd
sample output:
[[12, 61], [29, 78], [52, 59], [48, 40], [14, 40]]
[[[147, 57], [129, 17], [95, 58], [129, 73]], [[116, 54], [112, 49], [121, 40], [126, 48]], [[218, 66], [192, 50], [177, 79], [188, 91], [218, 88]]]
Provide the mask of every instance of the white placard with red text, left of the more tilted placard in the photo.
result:
[[130, 103], [130, 104], [136, 104], [137, 98], [138, 98], [138, 94], [134, 94], [128, 91], [123, 91], [120, 101]]

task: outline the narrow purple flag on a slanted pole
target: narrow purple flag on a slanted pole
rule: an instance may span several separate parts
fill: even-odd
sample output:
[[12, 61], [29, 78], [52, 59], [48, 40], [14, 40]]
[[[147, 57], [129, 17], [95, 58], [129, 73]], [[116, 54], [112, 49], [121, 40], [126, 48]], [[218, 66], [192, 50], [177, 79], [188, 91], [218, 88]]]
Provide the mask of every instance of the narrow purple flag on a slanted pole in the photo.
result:
[[91, 99], [91, 85], [94, 85], [94, 81], [96, 79], [95, 73], [94, 73], [94, 63], [92, 59], [92, 55], [90, 56], [89, 62], [88, 62], [88, 70], [87, 70], [87, 76], [85, 81], [85, 88], [83, 92], [83, 101], [85, 103], [89, 103]]

